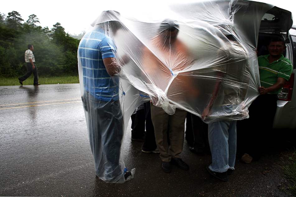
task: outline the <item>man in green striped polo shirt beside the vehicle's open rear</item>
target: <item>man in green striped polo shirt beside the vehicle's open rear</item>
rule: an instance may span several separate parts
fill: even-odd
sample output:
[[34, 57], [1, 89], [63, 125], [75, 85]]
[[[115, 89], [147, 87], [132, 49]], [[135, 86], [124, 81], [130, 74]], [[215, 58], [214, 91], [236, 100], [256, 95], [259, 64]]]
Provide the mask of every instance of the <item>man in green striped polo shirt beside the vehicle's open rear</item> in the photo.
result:
[[[277, 108], [277, 94], [291, 76], [293, 66], [283, 56], [286, 48], [282, 38], [270, 40], [268, 55], [258, 57], [261, 87], [260, 96], [249, 107], [249, 119], [240, 121], [242, 129], [242, 161], [250, 163], [259, 159], [265, 148], [266, 137], [272, 129]], [[239, 128], [240, 126], [238, 126]]]

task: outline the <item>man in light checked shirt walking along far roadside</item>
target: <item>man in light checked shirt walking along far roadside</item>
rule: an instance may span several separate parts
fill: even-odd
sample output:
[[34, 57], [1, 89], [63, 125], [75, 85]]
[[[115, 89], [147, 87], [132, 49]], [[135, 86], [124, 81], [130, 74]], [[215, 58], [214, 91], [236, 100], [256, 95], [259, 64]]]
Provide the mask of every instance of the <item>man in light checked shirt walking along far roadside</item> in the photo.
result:
[[26, 66], [27, 66], [27, 73], [18, 78], [19, 82], [21, 85], [23, 85], [23, 81], [25, 81], [28, 77], [31, 76], [31, 74], [34, 74], [34, 86], [36, 85], [40, 85], [40, 83], [38, 83], [38, 72], [37, 72], [37, 67], [35, 65], [35, 57], [33, 54], [34, 51], [34, 46], [33, 45], [28, 45], [28, 50], [26, 50], [25, 52], [25, 62], [26, 62]]

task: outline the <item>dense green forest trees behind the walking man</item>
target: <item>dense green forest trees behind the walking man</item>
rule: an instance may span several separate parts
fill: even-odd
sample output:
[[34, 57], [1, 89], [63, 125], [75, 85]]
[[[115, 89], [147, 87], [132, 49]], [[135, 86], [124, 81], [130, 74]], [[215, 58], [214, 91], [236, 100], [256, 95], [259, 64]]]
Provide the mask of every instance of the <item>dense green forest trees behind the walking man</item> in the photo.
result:
[[35, 14], [24, 21], [16, 11], [7, 16], [0, 12], [0, 77], [17, 77], [26, 72], [24, 54], [28, 44], [34, 45], [39, 75], [78, 75], [79, 40], [58, 22], [52, 29], [38, 24]]

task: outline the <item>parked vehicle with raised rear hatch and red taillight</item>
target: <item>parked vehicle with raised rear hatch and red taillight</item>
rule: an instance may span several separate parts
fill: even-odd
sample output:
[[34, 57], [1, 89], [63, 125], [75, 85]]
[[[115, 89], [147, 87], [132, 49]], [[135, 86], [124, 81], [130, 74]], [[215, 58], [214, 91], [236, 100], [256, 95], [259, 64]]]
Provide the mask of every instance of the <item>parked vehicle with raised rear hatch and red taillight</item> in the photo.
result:
[[[296, 27], [292, 27], [291, 12], [273, 7], [262, 17], [258, 36], [258, 56], [268, 54], [266, 45], [275, 36], [282, 36], [286, 40], [286, 50], [284, 56], [293, 64], [293, 73], [288, 82], [278, 94], [277, 110], [274, 118], [275, 129], [296, 128]], [[292, 29], [290, 29], [292, 27]]]

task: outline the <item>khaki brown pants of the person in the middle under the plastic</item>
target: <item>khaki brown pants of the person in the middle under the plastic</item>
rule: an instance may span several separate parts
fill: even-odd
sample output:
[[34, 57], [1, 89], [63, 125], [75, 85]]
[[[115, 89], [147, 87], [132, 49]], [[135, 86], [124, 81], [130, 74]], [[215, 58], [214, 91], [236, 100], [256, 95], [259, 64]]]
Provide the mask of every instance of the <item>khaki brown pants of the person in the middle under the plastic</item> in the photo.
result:
[[[151, 119], [154, 126], [157, 148], [163, 162], [179, 158], [183, 150], [184, 129], [187, 111], [176, 108], [174, 115], [168, 115], [161, 107], [151, 104]], [[169, 135], [170, 146], [168, 145]]]

